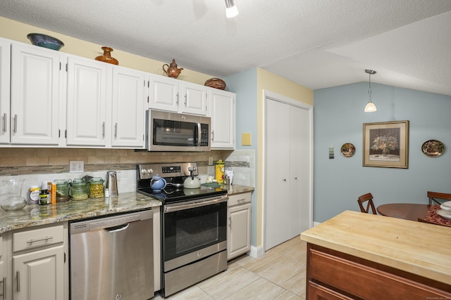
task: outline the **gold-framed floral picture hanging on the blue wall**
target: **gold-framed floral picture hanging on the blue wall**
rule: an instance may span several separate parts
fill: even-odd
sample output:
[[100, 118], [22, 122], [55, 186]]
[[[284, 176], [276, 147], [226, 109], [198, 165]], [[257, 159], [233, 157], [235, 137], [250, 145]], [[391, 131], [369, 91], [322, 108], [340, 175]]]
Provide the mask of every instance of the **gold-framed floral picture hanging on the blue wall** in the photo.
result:
[[409, 167], [409, 121], [364, 124], [364, 167]]

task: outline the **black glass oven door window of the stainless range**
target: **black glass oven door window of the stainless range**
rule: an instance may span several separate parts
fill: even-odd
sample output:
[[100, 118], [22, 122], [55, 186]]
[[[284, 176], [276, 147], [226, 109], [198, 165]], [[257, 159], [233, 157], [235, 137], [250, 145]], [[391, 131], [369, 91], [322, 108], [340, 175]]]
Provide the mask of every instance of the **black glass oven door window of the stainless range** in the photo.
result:
[[163, 219], [165, 261], [226, 240], [226, 202], [166, 213]]

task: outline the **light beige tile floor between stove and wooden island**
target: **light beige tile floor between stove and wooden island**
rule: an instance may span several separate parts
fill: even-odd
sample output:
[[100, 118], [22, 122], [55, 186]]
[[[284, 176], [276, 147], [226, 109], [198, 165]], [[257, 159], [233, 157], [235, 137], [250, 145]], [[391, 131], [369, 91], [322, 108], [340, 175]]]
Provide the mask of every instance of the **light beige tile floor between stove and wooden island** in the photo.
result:
[[305, 299], [306, 253], [306, 243], [297, 236], [269, 249], [261, 259], [233, 259], [226, 271], [167, 299]]

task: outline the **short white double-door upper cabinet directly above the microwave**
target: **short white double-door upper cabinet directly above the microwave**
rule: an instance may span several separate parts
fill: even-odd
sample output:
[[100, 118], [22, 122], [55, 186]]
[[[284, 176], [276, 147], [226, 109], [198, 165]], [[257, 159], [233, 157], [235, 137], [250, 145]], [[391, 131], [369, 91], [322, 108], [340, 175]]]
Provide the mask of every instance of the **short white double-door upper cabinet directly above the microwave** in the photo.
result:
[[206, 86], [150, 74], [149, 108], [206, 115]]

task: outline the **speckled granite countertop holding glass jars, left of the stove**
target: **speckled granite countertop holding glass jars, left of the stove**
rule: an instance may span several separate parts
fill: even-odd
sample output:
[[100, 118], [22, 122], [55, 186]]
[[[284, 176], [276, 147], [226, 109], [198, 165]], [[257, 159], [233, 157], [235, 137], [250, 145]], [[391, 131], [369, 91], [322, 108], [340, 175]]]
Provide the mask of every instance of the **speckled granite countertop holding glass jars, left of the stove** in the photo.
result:
[[20, 211], [0, 209], [0, 233], [9, 230], [92, 218], [161, 206], [161, 202], [140, 193], [122, 193], [117, 197], [87, 199], [37, 205], [27, 204]]

